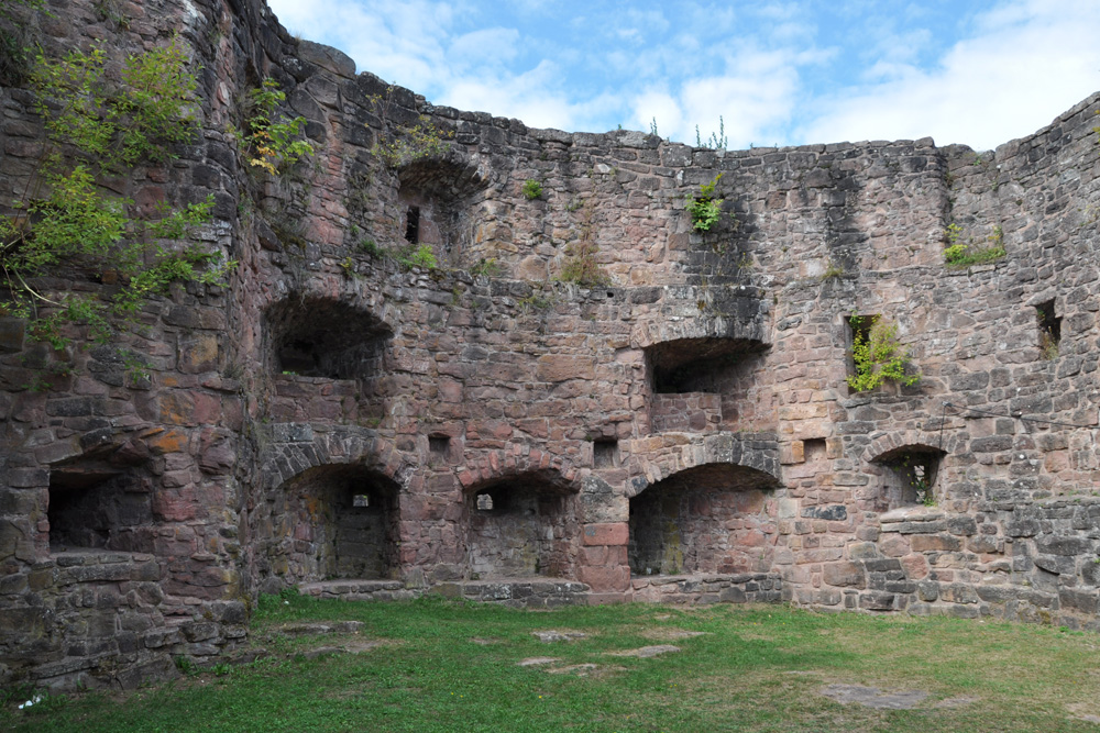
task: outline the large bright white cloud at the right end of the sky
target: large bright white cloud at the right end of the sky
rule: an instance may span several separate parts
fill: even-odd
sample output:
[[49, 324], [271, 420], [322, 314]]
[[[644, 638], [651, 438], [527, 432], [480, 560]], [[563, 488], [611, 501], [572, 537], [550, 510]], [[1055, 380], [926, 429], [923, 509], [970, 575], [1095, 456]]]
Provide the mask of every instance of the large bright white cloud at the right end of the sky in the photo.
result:
[[[1048, 124], [1100, 82], [1100, 4], [1007, 2], [932, 69], [892, 65], [886, 80], [814, 103], [804, 142], [914, 138], [994, 147]], [[886, 67], [879, 67], [879, 71]]]

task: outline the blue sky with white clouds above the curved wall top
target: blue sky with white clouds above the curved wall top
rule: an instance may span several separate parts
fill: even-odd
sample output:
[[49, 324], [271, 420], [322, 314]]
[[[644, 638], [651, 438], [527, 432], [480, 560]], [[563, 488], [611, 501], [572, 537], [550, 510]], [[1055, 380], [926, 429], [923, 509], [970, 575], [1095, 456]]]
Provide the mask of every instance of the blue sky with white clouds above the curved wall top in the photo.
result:
[[728, 147], [935, 137], [989, 149], [1100, 89], [1100, 0], [270, 0], [437, 104]]

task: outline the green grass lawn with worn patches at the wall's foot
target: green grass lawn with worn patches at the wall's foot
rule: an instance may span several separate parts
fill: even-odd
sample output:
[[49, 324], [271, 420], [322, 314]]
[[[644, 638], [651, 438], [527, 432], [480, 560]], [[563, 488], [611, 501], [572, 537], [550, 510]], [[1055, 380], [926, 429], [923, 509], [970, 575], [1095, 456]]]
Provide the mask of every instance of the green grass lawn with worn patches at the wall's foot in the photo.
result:
[[[358, 620], [358, 634], [279, 632]], [[583, 632], [547, 644], [531, 632]], [[683, 632], [703, 632], [689, 636]], [[0, 712], [12, 731], [1100, 731], [1100, 636], [783, 607], [513, 611], [425, 600], [265, 598], [270, 655], [118, 698]], [[374, 642], [374, 644], [372, 644]], [[644, 646], [680, 652], [625, 656]], [[317, 654], [321, 646], [352, 652]], [[547, 665], [518, 666], [530, 657]], [[840, 704], [833, 684], [922, 690], [911, 710]]]

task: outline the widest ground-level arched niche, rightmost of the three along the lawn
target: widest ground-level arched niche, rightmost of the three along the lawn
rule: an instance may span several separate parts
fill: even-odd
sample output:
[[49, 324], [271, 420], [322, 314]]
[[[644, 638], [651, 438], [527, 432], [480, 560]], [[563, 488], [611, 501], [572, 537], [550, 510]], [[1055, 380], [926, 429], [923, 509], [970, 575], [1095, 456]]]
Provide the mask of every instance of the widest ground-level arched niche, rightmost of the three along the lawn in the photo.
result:
[[766, 512], [774, 476], [713, 463], [657, 481], [630, 499], [630, 573], [693, 575], [771, 569], [777, 529]]

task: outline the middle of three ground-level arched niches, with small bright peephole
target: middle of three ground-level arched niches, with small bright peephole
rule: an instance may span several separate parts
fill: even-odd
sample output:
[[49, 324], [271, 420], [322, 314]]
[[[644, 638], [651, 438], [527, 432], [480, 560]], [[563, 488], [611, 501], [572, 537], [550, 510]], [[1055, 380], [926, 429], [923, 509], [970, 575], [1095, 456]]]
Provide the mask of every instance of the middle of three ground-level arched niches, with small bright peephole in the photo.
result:
[[556, 471], [530, 471], [473, 487], [464, 507], [470, 577], [572, 578], [578, 511], [578, 487]]

